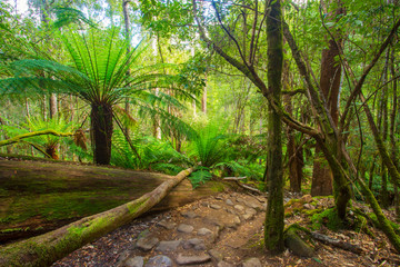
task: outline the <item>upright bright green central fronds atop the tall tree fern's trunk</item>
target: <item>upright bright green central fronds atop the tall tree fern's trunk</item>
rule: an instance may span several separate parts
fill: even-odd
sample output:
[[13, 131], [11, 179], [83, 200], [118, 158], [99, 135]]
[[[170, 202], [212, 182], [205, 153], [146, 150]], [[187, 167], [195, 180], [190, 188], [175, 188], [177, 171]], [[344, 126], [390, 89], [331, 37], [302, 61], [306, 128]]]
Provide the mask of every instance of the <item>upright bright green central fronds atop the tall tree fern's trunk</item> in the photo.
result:
[[[137, 63], [142, 48], [136, 48], [127, 53], [129, 42], [118, 36], [118, 30], [101, 32], [91, 30], [86, 34], [76, 32], [62, 36], [63, 42], [71, 56], [73, 68], [86, 76], [80, 80], [79, 93], [91, 103], [114, 103], [126, 93], [127, 87], [134, 80], [127, 71]], [[136, 66], [136, 70], [140, 69]]]

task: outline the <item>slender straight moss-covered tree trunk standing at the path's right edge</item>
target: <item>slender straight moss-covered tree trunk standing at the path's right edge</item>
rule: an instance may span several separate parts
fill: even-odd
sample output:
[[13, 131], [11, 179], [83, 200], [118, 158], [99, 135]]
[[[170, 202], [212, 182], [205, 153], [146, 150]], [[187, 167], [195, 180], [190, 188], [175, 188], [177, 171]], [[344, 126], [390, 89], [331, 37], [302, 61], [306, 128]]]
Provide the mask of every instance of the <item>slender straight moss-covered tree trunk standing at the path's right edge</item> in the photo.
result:
[[[268, 85], [276, 105], [281, 103], [281, 78], [283, 67], [283, 38], [281, 1], [270, 4], [267, 18], [268, 42]], [[279, 113], [270, 107], [269, 155], [268, 155], [268, 205], [264, 224], [264, 244], [272, 253], [284, 250], [283, 240], [283, 167], [282, 167], [282, 121]]]

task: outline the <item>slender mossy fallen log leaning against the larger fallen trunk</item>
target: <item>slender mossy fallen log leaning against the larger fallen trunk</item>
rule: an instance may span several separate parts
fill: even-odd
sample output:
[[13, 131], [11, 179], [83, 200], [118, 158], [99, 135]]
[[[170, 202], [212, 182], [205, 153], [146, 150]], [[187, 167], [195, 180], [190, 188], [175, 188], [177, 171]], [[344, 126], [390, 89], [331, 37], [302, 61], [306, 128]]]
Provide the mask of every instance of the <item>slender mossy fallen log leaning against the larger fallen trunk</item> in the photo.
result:
[[182, 170], [154, 190], [117, 208], [86, 217], [41, 236], [0, 247], [0, 266], [50, 266], [83, 245], [144, 214], [192, 171], [192, 168]]

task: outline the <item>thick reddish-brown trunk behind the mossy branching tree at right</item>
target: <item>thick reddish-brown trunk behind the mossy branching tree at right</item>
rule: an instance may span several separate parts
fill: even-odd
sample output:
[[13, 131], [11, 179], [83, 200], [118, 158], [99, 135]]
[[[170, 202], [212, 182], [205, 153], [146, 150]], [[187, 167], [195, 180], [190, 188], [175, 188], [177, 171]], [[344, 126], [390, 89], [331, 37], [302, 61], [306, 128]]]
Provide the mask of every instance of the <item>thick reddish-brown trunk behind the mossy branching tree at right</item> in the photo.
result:
[[[336, 14], [343, 12], [344, 10], [339, 8], [336, 11]], [[339, 38], [336, 42], [334, 40], [330, 39], [328, 43], [329, 48], [322, 50], [320, 88], [328, 103], [328, 109], [332, 117], [333, 123], [338, 126], [339, 89], [341, 78], [341, 65], [338, 60], [340, 50], [338, 46], [341, 46], [341, 40]], [[329, 165], [323, 155], [321, 154], [320, 145], [317, 144], [312, 171], [311, 195], [332, 195], [332, 171], [329, 168]]]

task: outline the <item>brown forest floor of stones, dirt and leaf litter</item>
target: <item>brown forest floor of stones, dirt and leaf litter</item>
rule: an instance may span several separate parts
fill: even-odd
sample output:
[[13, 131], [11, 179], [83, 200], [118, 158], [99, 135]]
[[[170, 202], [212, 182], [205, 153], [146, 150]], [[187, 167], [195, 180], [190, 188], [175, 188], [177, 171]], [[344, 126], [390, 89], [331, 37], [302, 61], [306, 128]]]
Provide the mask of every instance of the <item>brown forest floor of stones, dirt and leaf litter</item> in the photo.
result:
[[[333, 207], [331, 198], [287, 195], [286, 225], [310, 226], [310, 210]], [[358, 207], [368, 209], [362, 205]], [[269, 255], [262, 246], [266, 210], [263, 196], [226, 191], [169, 211], [151, 214], [123, 226], [56, 263], [72, 266], [399, 266], [384, 235], [371, 229], [331, 231], [321, 225], [318, 233], [361, 248], [353, 254], [311, 239], [309, 258], [286, 250]], [[390, 214], [388, 214], [390, 216]], [[326, 219], [326, 218], [324, 218]], [[327, 221], [326, 221], [327, 222]]]

